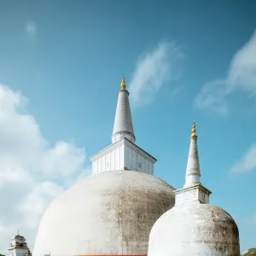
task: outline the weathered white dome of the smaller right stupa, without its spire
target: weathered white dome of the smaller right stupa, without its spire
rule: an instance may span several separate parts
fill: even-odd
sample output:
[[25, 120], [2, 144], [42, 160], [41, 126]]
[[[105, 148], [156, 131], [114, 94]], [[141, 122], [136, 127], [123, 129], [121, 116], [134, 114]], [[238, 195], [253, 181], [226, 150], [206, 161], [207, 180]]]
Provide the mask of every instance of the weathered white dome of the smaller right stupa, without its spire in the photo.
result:
[[234, 219], [223, 209], [199, 202], [173, 207], [154, 224], [148, 256], [239, 256]]

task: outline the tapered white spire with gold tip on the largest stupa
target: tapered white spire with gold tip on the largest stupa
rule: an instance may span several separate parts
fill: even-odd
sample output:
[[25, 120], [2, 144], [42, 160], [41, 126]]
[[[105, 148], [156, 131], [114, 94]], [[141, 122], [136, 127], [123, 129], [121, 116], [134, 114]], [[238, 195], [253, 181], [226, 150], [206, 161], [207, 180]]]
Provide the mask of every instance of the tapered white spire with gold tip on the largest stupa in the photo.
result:
[[115, 113], [112, 143], [126, 137], [132, 143], [135, 142], [133, 125], [131, 120], [131, 109], [129, 102], [129, 92], [126, 90], [125, 76], [122, 79], [119, 90], [118, 103]]

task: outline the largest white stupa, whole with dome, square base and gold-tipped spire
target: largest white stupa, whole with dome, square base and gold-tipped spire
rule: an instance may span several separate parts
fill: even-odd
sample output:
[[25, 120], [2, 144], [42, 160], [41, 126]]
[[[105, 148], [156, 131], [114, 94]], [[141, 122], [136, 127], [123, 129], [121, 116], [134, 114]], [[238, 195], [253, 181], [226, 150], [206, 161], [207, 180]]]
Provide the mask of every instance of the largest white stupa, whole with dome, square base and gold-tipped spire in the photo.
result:
[[112, 144], [93, 155], [92, 175], [44, 212], [33, 256], [145, 255], [155, 221], [175, 190], [154, 177], [153, 156], [135, 144], [129, 92], [119, 90]]

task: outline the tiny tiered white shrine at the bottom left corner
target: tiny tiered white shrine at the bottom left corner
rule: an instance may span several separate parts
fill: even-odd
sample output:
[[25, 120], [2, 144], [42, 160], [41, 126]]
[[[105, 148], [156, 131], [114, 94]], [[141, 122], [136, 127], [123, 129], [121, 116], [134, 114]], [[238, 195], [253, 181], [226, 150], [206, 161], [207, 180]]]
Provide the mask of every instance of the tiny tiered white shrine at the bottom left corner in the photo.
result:
[[16, 235], [11, 240], [9, 255], [10, 256], [32, 256], [32, 253], [27, 247], [25, 237], [20, 236], [19, 231], [18, 231], [18, 235]]

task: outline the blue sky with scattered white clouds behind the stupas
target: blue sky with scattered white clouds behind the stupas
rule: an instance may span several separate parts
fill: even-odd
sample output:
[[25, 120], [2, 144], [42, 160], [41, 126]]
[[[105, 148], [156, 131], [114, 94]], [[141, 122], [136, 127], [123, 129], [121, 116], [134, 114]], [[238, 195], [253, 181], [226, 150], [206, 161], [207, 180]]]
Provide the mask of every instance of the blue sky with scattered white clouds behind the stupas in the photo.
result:
[[0, 253], [32, 248], [56, 196], [111, 143], [122, 75], [137, 145], [183, 187], [195, 119], [201, 182], [256, 247], [255, 1], [1, 1]]

